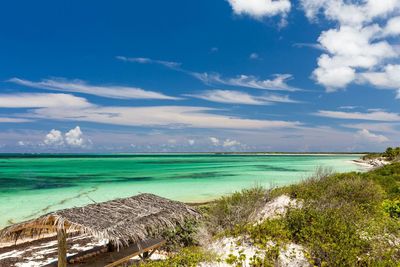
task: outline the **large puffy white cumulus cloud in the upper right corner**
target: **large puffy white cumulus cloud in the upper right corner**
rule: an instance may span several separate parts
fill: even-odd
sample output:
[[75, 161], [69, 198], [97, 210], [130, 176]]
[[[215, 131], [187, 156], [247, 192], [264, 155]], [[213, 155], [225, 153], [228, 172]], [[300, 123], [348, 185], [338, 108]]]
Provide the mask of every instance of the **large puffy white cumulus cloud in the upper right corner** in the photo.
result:
[[318, 58], [313, 77], [327, 91], [346, 88], [353, 82], [374, 86], [393, 83], [390, 74], [381, 72], [389, 67], [388, 60], [399, 58], [388, 37], [400, 34], [396, 16], [400, 0], [301, 0], [301, 5], [310, 20], [322, 15], [337, 23], [318, 38], [324, 53]]

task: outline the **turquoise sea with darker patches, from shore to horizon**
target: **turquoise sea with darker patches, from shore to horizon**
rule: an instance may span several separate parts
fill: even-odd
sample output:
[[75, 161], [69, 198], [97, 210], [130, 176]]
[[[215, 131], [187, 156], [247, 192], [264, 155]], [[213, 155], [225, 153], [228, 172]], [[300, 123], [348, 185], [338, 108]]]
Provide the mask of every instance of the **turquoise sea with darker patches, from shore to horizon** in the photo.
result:
[[0, 155], [0, 227], [142, 192], [198, 202], [297, 182], [318, 166], [362, 170], [359, 155]]

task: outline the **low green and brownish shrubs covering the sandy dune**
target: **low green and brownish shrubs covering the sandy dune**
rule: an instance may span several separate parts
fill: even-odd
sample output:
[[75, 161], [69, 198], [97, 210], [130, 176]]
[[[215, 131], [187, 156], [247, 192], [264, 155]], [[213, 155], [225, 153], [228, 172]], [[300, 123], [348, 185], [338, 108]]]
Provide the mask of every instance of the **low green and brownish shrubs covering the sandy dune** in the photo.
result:
[[[266, 203], [282, 195], [301, 205], [288, 206], [280, 216], [254, 221]], [[280, 254], [293, 244], [303, 249], [310, 266], [400, 264], [399, 162], [366, 173], [335, 174], [320, 168], [301, 183], [242, 190], [199, 209], [201, 222], [188, 222], [169, 233], [171, 251], [178, 253], [143, 266], [214, 266], [218, 262], [282, 266]], [[233, 238], [238, 246], [251, 244], [257, 253], [248, 258], [239, 251], [221, 258], [218, 251], [207, 249], [221, 238]]]

